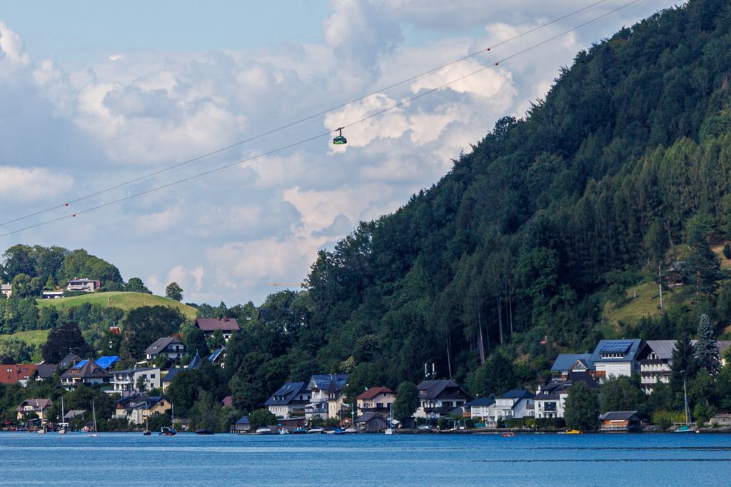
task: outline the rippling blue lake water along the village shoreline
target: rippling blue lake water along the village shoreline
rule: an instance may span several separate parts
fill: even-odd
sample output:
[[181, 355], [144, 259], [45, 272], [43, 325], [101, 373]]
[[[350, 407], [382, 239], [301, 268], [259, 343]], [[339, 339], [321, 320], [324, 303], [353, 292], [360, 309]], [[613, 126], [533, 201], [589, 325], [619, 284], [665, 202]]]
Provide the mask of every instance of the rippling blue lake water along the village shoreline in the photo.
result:
[[0, 485], [726, 486], [731, 434], [0, 433]]

